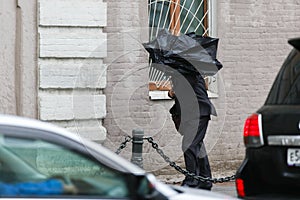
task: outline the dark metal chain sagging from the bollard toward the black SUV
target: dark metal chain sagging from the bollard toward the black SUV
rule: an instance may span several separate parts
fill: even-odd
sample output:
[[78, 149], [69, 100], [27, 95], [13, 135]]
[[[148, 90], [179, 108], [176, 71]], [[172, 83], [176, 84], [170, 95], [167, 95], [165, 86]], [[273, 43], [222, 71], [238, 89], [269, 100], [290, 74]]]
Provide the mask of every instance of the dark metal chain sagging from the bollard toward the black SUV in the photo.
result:
[[235, 175], [224, 177], [224, 178], [209, 178], [209, 177], [203, 177], [203, 176], [197, 176], [194, 173], [191, 173], [185, 169], [182, 169], [180, 166], [178, 166], [175, 162], [171, 161], [170, 158], [164, 154], [162, 149], [159, 148], [158, 144], [154, 142], [152, 137], [144, 137], [145, 140], [147, 140], [152, 147], [157, 151], [157, 153], [174, 169], [176, 169], [178, 172], [182, 173], [185, 176], [192, 177], [198, 181], [202, 182], [212, 182], [212, 183], [224, 183], [235, 180]]

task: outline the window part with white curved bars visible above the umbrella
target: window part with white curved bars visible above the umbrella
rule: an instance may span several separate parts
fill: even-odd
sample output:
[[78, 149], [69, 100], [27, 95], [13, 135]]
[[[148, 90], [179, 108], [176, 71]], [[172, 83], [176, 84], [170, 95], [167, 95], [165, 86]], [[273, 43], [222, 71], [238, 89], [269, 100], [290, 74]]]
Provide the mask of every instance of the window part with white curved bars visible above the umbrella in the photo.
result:
[[207, 0], [149, 0], [150, 40], [155, 38], [159, 28], [167, 28], [174, 34], [207, 35], [207, 19]]

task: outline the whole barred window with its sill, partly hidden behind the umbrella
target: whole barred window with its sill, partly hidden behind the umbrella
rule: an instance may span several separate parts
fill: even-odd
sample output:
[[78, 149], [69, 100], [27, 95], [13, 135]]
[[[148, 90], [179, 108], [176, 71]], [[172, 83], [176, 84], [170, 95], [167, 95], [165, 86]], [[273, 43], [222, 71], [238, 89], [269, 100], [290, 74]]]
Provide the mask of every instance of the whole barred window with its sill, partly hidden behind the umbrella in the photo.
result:
[[[160, 29], [168, 29], [173, 34], [195, 32], [210, 35], [213, 0], [148, 0], [149, 40], [153, 40]], [[171, 88], [169, 76], [151, 67], [149, 70], [150, 99], [169, 99], [167, 91]], [[216, 76], [206, 77], [209, 84], [208, 94], [217, 97]]]

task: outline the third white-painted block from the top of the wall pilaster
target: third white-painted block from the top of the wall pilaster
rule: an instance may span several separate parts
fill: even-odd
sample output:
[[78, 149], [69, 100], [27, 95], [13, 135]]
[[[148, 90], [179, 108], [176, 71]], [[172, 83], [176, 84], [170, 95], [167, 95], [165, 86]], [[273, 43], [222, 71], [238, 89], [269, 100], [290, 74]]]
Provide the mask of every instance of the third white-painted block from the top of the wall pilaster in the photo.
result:
[[40, 87], [106, 87], [106, 65], [102, 59], [40, 59]]

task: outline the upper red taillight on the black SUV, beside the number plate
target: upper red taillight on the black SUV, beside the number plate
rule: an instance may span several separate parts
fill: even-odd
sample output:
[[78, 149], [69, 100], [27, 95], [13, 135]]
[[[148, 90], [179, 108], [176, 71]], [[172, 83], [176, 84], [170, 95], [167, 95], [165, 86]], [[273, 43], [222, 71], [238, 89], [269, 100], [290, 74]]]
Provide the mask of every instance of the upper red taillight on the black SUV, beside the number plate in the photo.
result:
[[246, 147], [260, 147], [264, 144], [261, 118], [261, 114], [253, 114], [246, 119], [244, 126], [244, 143]]

